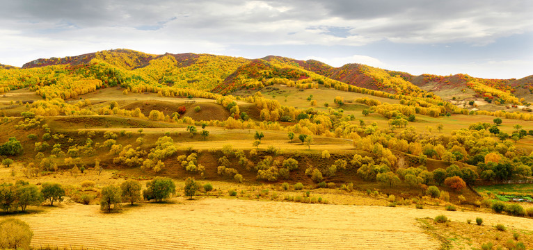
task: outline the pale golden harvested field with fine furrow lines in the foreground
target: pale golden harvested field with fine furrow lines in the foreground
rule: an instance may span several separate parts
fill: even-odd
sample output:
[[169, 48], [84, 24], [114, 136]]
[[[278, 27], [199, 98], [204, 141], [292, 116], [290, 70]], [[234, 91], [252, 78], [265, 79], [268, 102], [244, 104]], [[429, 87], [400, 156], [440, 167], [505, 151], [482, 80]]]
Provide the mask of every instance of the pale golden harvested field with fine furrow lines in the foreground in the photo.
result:
[[[235, 199], [175, 199], [105, 214], [79, 204], [17, 215], [35, 247], [90, 249], [438, 249], [416, 217], [453, 221], [479, 213]], [[486, 225], [533, 229], [531, 219], [484, 214]]]

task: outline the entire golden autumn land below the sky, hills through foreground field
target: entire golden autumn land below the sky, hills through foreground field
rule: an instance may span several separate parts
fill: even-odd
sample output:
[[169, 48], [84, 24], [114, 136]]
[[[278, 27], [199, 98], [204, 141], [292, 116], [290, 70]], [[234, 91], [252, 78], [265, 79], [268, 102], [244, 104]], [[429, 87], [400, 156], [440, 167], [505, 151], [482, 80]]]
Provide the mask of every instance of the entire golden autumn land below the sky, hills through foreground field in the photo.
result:
[[33, 249], [528, 249], [531, 80], [127, 49], [3, 66], [0, 227]]

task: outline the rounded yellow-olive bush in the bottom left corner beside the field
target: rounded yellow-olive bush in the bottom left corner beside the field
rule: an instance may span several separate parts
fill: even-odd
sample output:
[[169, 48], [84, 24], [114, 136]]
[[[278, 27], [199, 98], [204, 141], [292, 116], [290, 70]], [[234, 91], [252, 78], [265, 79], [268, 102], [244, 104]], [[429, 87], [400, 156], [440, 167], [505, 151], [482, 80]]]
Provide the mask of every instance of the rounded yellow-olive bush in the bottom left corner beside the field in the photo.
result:
[[30, 249], [33, 231], [20, 219], [10, 218], [0, 222], [0, 249]]

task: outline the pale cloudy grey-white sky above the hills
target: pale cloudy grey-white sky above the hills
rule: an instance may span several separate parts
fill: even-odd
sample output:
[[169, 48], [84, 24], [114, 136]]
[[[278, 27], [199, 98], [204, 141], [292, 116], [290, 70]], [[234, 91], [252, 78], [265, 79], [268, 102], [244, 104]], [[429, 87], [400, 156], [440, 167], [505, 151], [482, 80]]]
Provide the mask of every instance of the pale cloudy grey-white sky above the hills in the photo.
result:
[[0, 0], [0, 63], [106, 49], [533, 74], [531, 0]]

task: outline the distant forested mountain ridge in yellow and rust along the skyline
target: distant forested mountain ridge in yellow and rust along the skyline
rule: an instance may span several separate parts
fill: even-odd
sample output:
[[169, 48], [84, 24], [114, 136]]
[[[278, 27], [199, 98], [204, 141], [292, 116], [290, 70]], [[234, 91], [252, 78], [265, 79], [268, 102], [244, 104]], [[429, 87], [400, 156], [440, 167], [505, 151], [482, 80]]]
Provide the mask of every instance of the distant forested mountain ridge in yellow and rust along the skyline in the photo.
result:
[[230, 94], [241, 88], [260, 88], [271, 79], [303, 83], [307, 78], [317, 79], [317, 76], [393, 94], [420, 96], [424, 92], [434, 92], [443, 99], [462, 95], [463, 98], [516, 102], [515, 97], [528, 97], [533, 92], [533, 76], [518, 80], [473, 78], [466, 74], [413, 76], [406, 72], [356, 63], [331, 67], [317, 60], [295, 60], [282, 56], [246, 59], [195, 53], [153, 55], [129, 49], [98, 51], [65, 58], [41, 58], [24, 64], [22, 68], [0, 65], [0, 69], [24, 71], [40, 68], [46, 71], [47, 67], [56, 65], [70, 70], [70, 74], [74, 75], [80, 74], [76, 70], [81, 67], [90, 67], [93, 71], [97, 68], [98, 72], [90, 74], [101, 78], [105, 84], [143, 81], [221, 94]]

